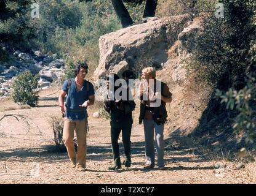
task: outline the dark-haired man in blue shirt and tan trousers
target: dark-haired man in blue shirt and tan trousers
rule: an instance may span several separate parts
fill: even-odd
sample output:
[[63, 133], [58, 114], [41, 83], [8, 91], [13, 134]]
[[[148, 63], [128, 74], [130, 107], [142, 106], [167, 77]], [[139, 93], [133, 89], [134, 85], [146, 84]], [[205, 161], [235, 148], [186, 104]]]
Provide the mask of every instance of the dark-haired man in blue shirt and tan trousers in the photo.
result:
[[[63, 143], [68, 156], [79, 171], [86, 170], [86, 134], [87, 134], [87, 107], [94, 104], [94, 86], [85, 80], [88, 66], [85, 62], [78, 62], [74, 69], [75, 78], [63, 83], [62, 91], [58, 96], [60, 111], [65, 115], [63, 128]], [[64, 106], [64, 97], [66, 104]], [[77, 153], [74, 149], [74, 130], [78, 140]]]

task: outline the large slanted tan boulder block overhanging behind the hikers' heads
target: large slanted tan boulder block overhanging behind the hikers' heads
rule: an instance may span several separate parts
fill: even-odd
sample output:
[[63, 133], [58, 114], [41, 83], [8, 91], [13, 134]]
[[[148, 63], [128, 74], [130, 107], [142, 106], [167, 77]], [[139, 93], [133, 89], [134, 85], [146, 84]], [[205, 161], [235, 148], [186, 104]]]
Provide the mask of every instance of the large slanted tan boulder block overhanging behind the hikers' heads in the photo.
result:
[[189, 15], [150, 20], [100, 37], [100, 63], [95, 77], [110, 72], [120, 75], [127, 69], [140, 70], [139, 66], [161, 67], [167, 61], [167, 49], [189, 20]]

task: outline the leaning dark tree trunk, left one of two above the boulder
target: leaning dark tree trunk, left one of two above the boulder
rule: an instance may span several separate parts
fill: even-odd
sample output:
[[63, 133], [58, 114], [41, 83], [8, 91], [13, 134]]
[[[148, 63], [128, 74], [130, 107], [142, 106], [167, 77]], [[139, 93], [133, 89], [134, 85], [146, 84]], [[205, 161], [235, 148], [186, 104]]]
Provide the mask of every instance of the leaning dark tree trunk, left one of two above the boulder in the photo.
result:
[[118, 18], [121, 21], [122, 28], [132, 25], [134, 21], [130, 18], [130, 14], [122, 3], [122, 0], [111, 0], [111, 2], [116, 11], [116, 15], [118, 15]]

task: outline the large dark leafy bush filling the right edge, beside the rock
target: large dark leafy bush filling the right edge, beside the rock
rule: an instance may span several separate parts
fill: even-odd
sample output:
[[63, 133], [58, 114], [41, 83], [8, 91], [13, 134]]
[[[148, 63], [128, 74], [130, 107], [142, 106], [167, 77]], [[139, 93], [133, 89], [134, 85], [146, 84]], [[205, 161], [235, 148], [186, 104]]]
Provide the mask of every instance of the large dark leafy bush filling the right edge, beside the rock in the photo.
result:
[[226, 105], [215, 108], [222, 108], [227, 116], [234, 114], [235, 132], [242, 131], [246, 141], [254, 142], [256, 4], [252, 0], [221, 2], [224, 18], [214, 13], [204, 18], [204, 32], [196, 37], [188, 70], [197, 74], [197, 80], [218, 88], [216, 96]]

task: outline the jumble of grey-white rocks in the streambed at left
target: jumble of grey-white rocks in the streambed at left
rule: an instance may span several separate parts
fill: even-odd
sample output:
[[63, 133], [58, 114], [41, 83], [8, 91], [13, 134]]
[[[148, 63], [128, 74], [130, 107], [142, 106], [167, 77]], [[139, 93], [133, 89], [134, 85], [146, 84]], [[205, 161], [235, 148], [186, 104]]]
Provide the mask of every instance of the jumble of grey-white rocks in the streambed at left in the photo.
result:
[[40, 51], [30, 54], [22, 51], [14, 52], [15, 59], [9, 63], [0, 64], [0, 97], [10, 95], [10, 84], [15, 76], [30, 70], [32, 74], [39, 74], [39, 89], [46, 89], [52, 82], [58, 83], [64, 74], [65, 61], [57, 59], [57, 55], [47, 56]]

